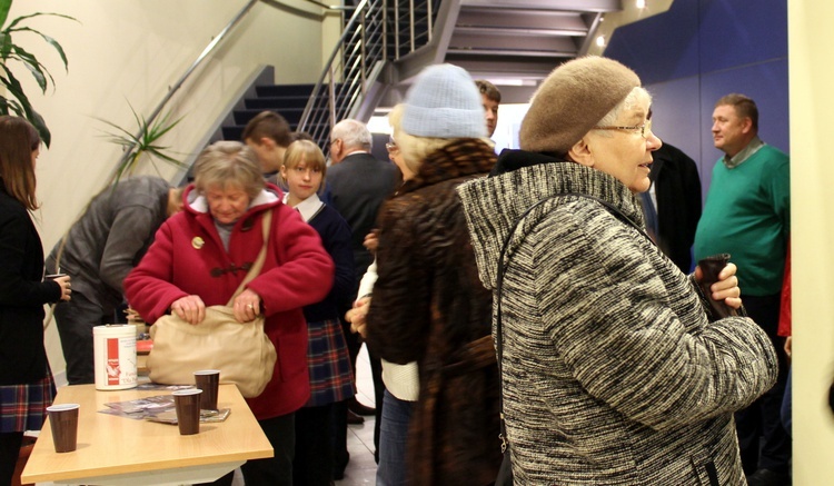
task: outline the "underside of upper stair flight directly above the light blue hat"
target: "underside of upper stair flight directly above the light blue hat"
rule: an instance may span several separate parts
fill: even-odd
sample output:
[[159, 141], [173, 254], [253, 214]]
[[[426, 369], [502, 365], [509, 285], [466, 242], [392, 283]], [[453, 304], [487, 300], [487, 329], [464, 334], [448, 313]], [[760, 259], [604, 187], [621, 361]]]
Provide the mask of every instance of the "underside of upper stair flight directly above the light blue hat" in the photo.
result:
[[588, 53], [604, 16], [620, 10], [623, 0], [444, 0], [433, 41], [395, 66], [407, 82], [426, 65], [450, 62], [495, 83], [503, 103], [526, 103], [555, 67]]

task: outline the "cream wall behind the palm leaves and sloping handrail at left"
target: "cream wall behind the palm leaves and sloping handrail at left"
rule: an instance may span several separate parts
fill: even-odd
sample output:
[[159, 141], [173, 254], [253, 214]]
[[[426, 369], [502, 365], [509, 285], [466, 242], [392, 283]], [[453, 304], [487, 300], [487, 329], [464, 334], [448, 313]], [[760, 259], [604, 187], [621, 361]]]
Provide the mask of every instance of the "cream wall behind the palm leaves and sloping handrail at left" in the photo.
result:
[[[195, 72], [175, 96], [170, 108], [181, 123], [162, 141], [173, 151], [199, 151], [211, 125], [222, 115], [231, 93], [241, 89], [262, 65], [276, 68], [277, 83], [315, 82], [321, 58], [332, 49], [322, 46], [321, 9], [304, 0], [282, 0], [309, 14], [258, 3], [209, 62]], [[32, 12], [58, 12], [78, 22], [36, 18], [28, 26], [54, 38], [64, 49], [69, 72], [40, 38], [20, 33], [16, 42], [34, 53], [54, 77], [46, 96], [24, 69], [16, 69], [34, 108], [52, 131], [49, 150], [38, 160], [36, 215], [48, 252], [78, 217], [89, 199], [107, 184], [121, 150], [103, 137], [108, 127], [97, 118], [137, 131], [130, 103], [143, 116], [150, 112], [198, 58], [214, 36], [248, 0], [18, 0], [10, 18]], [[328, 39], [332, 37], [330, 34]], [[161, 163], [162, 176], [178, 171]], [[145, 171], [152, 172], [148, 166]], [[64, 369], [54, 326], [47, 333], [52, 370]]]

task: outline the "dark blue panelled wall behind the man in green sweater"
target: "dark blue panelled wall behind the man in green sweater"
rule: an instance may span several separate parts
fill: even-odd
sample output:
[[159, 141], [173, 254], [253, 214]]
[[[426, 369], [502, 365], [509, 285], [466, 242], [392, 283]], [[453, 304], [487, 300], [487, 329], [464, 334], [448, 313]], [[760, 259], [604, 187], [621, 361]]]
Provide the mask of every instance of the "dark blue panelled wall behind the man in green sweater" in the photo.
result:
[[711, 127], [724, 95], [753, 98], [762, 139], [790, 152], [787, 0], [675, 0], [618, 28], [605, 56], [639, 75], [657, 133], [698, 162], [704, 194], [721, 156]]

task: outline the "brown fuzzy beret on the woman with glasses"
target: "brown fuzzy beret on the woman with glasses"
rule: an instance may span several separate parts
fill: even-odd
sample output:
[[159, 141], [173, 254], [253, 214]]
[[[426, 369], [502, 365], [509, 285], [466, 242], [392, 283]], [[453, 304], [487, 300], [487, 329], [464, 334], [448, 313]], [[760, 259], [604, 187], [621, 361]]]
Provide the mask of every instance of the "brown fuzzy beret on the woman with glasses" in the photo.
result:
[[518, 135], [522, 150], [567, 153], [638, 86], [637, 75], [612, 59], [565, 62], [533, 95]]

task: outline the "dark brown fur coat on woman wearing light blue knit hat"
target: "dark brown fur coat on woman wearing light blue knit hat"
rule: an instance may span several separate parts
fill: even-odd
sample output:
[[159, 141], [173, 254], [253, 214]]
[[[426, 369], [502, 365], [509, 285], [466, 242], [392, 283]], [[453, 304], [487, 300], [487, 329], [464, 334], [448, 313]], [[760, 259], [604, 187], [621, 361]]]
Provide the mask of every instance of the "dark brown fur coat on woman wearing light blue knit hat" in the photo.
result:
[[379, 212], [367, 344], [388, 361], [418, 363], [407, 453], [413, 485], [486, 485], [500, 466], [492, 295], [478, 280], [455, 194], [494, 165], [483, 141], [453, 141]]

